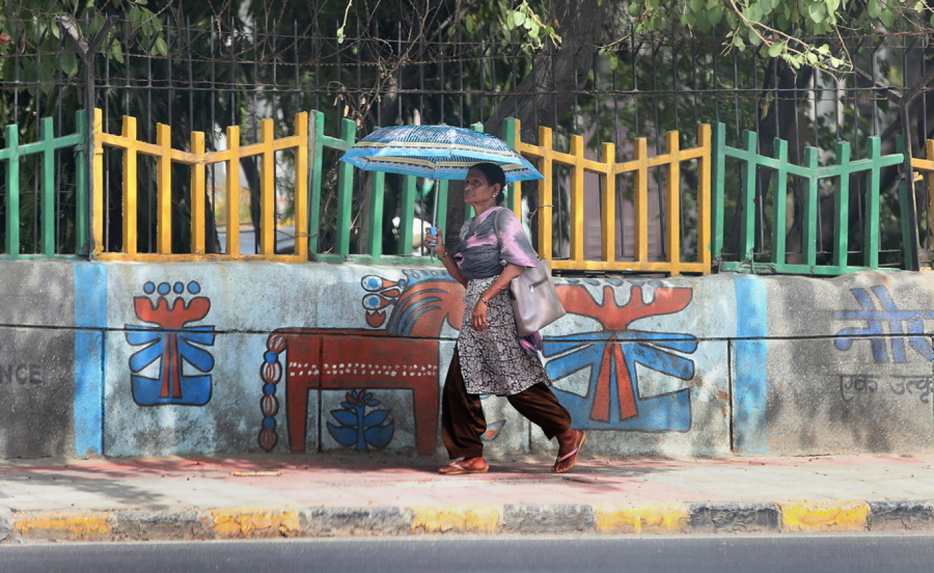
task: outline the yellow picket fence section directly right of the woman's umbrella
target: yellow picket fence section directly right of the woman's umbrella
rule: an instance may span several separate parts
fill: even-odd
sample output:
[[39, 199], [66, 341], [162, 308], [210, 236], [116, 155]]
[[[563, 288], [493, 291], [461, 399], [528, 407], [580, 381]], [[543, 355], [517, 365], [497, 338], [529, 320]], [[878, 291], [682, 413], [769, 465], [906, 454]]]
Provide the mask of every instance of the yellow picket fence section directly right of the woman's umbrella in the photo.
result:
[[[538, 227], [538, 245], [540, 256], [551, 259], [551, 267], [556, 270], [603, 271], [603, 272], [646, 272], [667, 273], [671, 276], [682, 273], [709, 274], [711, 272], [711, 128], [703, 124], [698, 128], [698, 147], [682, 150], [678, 132], [666, 135], [664, 153], [649, 156], [648, 142], [640, 137], [634, 141], [633, 158], [630, 161], [616, 162], [616, 146], [604, 143], [601, 147], [601, 160], [595, 161], [584, 156], [584, 137], [571, 136], [570, 150], [562, 152], [554, 149], [552, 130], [539, 127], [539, 145], [532, 145], [518, 140], [522, 133], [518, 120], [507, 120], [504, 137], [507, 142], [526, 157], [537, 160], [539, 170], [545, 176], [540, 182], [539, 205], [554, 205], [556, 186], [555, 165], [564, 165], [570, 171], [570, 256], [567, 259], [553, 259], [552, 218], [540, 217]], [[697, 256], [694, 261], [682, 260], [682, 164], [697, 161]], [[533, 163], [536, 163], [533, 161]], [[665, 260], [650, 260], [649, 257], [649, 178], [653, 169], [664, 170], [665, 186], [661, 203], [660, 216], [664, 219]], [[601, 178], [601, 257], [587, 259], [584, 255], [584, 178], [586, 173], [593, 173]], [[635, 230], [634, 256], [623, 258], [616, 252], [616, 236], [619, 231], [616, 218], [616, 197], [618, 176], [631, 173], [634, 189], [633, 207]], [[512, 197], [512, 208], [520, 212], [521, 196]]]

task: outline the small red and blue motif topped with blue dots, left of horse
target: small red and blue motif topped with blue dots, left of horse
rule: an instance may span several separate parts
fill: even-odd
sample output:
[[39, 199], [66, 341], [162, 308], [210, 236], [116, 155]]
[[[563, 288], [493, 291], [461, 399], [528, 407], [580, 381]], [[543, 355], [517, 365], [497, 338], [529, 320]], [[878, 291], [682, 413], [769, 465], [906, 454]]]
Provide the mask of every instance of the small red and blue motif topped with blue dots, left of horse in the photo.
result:
[[[191, 325], [207, 316], [211, 301], [206, 296], [193, 296], [186, 303], [182, 298], [186, 291], [197, 295], [201, 286], [195, 281], [187, 287], [181, 282], [158, 286], [147, 282], [143, 292], [148, 296], [134, 297], [136, 318], [160, 327], [126, 325], [130, 331], [126, 333], [127, 342], [143, 347], [130, 356], [133, 399], [140, 406], [204, 406], [211, 399], [208, 373], [214, 369], [214, 356], [200, 347], [214, 345], [214, 326]], [[167, 296], [173, 293], [177, 296], [170, 305]], [[153, 294], [157, 295], [154, 299], [150, 298]], [[156, 361], [157, 378], [140, 374]], [[201, 374], [186, 375], [186, 364]]]

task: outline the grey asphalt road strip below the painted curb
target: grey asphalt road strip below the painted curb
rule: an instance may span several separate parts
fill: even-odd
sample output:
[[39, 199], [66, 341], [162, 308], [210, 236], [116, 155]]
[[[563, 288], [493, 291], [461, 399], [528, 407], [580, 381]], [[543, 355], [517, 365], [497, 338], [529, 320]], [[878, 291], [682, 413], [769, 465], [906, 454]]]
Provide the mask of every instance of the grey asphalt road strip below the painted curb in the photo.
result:
[[934, 535], [381, 537], [0, 545], [0, 570], [84, 573], [934, 571]]

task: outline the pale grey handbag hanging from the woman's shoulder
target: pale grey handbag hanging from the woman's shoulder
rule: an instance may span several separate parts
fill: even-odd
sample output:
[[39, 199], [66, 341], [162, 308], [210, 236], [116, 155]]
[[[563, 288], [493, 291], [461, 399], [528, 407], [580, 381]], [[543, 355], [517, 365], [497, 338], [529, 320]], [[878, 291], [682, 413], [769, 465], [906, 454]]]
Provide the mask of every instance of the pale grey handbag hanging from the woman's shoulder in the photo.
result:
[[519, 337], [528, 337], [567, 314], [555, 290], [547, 259], [539, 259], [538, 266], [522, 271], [510, 283], [509, 289], [513, 293], [513, 313], [516, 314]]

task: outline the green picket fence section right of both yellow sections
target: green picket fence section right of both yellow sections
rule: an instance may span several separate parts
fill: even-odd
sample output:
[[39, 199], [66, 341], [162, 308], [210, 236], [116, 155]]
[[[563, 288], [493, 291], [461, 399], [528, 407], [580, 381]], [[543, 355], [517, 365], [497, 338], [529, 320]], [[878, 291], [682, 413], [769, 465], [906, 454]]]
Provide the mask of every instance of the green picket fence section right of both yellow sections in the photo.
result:
[[[870, 137], [865, 159], [851, 160], [850, 145], [840, 142], [836, 149], [836, 165], [818, 165], [820, 150], [812, 147], [805, 148], [803, 165], [795, 165], [788, 161], [788, 144], [782, 139], [774, 140], [774, 157], [757, 152], [757, 135], [750, 131], [743, 133], [742, 148], [727, 146], [723, 123], [715, 124], [713, 147], [712, 236], [719, 270], [830, 276], [880, 268], [881, 174], [886, 167], [900, 167], [904, 162], [903, 153], [883, 155], [879, 137]], [[736, 160], [739, 169], [728, 170], [728, 159]], [[739, 179], [735, 190], [728, 189], [730, 174], [733, 179]], [[829, 246], [818, 235], [818, 225], [822, 222], [819, 205], [822, 179], [830, 179], [834, 190], [832, 222], [825, 216], [822, 225], [832, 225]], [[862, 199], [857, 204], [862, 206], [863, 212], [858, 218], [861, 227], [851, 237], [851, 182], [854, 179], [861, 180], [864, 195], [853, 197]], [[763, 180], [771, 184], [765, 186]], [[791, 253], [786, 250], [789, 181], [800, 186], [797, 195], [802, 198], [801, 248]], [[757, 194], [757, 189], [766, 191]], [[904, 193], [899, 193], [899, 204], [904, 201]], [[732, 207], [733, 218], [729, 218], [728, 205]], [[728, 223], [733, 223], [729, 230]], [[908, 236], [907, 224], [907, 221], [901, 222], [899, 265], [913, 260], [910, 245], [904, 240]], [[733, 239], [730, 252], [724, 244], [728, 233]], [[792, 258], [798, 260], [789, 261]]]

